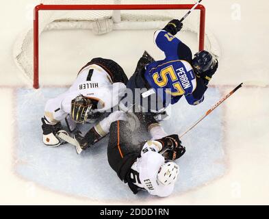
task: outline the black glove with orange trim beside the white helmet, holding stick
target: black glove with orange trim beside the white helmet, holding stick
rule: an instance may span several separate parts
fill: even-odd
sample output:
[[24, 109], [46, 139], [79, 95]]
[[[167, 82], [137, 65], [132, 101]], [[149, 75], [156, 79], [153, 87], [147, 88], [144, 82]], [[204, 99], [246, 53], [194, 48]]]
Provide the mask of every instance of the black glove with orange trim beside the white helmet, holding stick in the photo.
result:
[[177, 135], [166, 136], [157, 141], [161, 142], [163, 145], [162, 151], [159, 153], [161, 153], [165, 159], [179, 159], [179, 157], [185, 153], [185, 147], [181, 145], [181, 140], [179, 140], [179, 136]]

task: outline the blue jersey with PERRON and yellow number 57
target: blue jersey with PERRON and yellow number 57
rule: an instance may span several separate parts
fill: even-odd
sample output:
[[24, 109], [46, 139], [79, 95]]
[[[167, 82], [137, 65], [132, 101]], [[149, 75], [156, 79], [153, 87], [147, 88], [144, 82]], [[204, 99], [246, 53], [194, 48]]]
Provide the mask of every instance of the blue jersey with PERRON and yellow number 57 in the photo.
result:
[[190, 105], [201, 103], [204, 99], [203, 94], [198, 99], [192, 95], [196, 89], [196, 75], [192, 66], [189, 62], [179, 59], [181, 40], [165, 30], [156, 31], [154, 39], [157, 47], [164, 51], [166, 58], [146, 66], [146, 81], [166, 105], [177, 103], [182, 96], [185, 96]]

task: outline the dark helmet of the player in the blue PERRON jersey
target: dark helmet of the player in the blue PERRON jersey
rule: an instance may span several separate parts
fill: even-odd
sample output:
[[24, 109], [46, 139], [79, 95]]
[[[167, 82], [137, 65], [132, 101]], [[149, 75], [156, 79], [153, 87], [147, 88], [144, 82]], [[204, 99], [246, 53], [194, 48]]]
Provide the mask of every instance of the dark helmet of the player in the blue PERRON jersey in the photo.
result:
[[199, 51], [194, 55], [194, 59], [192, 60], [192, 67], [196, 71], [196, 73], [203, 73], [214, 64], [214, 58], [208, 51]]

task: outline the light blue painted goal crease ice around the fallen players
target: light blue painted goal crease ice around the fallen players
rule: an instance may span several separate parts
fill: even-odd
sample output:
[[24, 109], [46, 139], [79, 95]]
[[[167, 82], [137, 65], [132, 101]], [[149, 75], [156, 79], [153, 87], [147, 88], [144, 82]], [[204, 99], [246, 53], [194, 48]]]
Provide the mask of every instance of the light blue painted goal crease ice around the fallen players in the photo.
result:
[[[64, 88], [42, 88], [38, 92], [25, 88], [17, 90], [16, 157], [20, 164], [16, 165], [16, 172], [51, 190], [85, 196], [94, 200], [144, 201], [152, 199], [153, 197], [150, 197], [147, 192], [133, 195], [127, 185], [118, 179], [107, 162], [107, 138], [81, 155], [75, 153], [73, 146], [49, 148], [42, 144], [40, 118], [43, 116], [44, 103], [64, 90]], [[220, 99], [218, 89], [208, 90], [207, 104], [213, 105], [218, 99]], [[185, 131], [190, 121], [195, 121], [196, 115], [199, 112], [205, 112], [207, 107], [208, 105], [191, 107], [182, 99], [180, 104], [172, 108], [170, 119], [164, 121], [164, 129], [169, 134]], [[180, 180], [175, 186], [173, 196], [224, 175], [226, 164], [223, 136], [225, 131], [222, 127], [222, 119], [223, 109], [220, 108], [214, 115], [207, 118], [206, 129], [202, 126], [197, 127], [196, 131], [184, 138], [187, 153], [178, 161], [181, 166]], [[133, 138], [138, 138], [138, 136], [140, 133]], [[149, 137], [140, 136], [140, 142], [146, 139]]]

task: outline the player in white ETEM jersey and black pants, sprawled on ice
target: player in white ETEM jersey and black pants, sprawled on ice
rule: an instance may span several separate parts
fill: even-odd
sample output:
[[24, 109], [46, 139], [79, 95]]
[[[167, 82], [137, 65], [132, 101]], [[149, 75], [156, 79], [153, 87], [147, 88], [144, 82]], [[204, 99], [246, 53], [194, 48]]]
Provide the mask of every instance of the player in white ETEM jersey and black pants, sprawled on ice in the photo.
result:
[[145, 190], [152, 195], [169, 196], [179, 175], [179, 166], [173, 161], [185, 153], [185, 147], [177, 135], [167, 136], [153, 114], [140, 114], [139, 118], [152, 140], [133, 144], [137, 131], [131, 130], [128, 120], [116, 120], [110, 126], [108, 162], [134, 194]]

